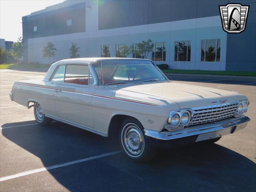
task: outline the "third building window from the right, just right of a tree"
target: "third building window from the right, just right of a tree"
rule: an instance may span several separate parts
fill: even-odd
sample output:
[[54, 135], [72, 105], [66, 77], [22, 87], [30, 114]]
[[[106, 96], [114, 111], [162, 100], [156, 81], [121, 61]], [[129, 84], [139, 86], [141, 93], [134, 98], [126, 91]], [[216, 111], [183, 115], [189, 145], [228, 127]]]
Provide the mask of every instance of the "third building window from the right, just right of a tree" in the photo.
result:
[[156, 42], [152, 49], [152, 61], [166, 60], [166, 42]]

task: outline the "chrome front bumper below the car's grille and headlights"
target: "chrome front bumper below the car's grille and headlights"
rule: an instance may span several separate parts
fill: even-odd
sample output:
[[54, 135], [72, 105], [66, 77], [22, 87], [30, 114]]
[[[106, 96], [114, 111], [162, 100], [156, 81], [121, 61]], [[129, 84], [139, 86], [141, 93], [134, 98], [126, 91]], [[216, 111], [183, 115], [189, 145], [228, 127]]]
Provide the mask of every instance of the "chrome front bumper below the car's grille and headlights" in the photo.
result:
[[196, 142], [214, 139], [223, 135], [231, 134], [234, 131], [241, 130], [246, 127], [250, 118], [241, 116], [239, 118], [232, 118], [228, 120], [222, 120], [216, 123], [209, 123], [201, 126], [193, 126], [191, 128], [185, 128], [183, 130], [172, 132], [157, 132], [153, 130], [144, 130], [146, 136], [155, 138], [158, 140], [172, 140], [178, 138], [185, 138], [188, 136], [198, 135]]

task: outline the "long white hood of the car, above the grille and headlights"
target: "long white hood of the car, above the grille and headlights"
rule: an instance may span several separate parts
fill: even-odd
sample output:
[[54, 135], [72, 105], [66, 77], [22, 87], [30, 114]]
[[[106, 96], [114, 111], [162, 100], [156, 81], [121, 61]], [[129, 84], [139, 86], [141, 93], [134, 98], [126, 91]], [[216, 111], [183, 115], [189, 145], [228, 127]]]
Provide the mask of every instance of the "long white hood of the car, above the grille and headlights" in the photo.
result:
[[[246, 99], [237, 92], [174, 82], [146, 83], [121, 88], [126, 92], [156, 96], [176, 102], [182, 108], [196, 108]], [[131, 94], [132, 95], [132, 94]]]

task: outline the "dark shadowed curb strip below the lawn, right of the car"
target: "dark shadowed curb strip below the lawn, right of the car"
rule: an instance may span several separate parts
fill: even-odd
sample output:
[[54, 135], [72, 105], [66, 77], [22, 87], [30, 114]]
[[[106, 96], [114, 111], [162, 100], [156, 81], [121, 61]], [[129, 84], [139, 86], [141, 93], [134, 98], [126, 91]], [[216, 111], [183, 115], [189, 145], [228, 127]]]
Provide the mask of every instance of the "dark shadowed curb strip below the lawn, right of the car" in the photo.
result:
[[180, 73], [164, 73], [167, 77], [188, 77], [188, 78], [219, 78], [219, 79], [229, 79], [229, 80], [244, 80], [244, 81], [255, 81], [256, 77], [254, 76], [235, 76], [235, 75], [202, 75], [202, 74], [180, 74]]

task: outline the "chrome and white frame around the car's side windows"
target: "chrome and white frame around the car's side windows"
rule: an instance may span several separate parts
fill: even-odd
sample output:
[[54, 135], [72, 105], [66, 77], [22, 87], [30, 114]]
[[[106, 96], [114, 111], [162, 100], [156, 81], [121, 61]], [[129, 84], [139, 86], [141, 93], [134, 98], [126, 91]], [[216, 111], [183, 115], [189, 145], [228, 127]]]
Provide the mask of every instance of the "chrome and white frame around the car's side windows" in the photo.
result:
[[[66, 83], [64, 82], [65, 81], [65, 77], [66, 77], [66, 66], [67, 65], [78, 65], [78, 66], [88, 66], [88, 85], [82, 85], [82, 84], [75, 84], [75, 83]], [[64, 78], [63, 78], [63, 82], [54, 82], [52, 81], [54, 75], [56, 74], [57, 70], [59, 67], [61, 66], [65, 66], [65, 69], [64, 69]], [[92, 77], [93, 77], [93, 80], [94, 80], [94, 83], [92, 85], [90, 85], [90, 78], [89, 78], [89, 71], [91, 71], [92, 73]], [[93, 67], [90, 65], [90, 64], [84, 64], [84, 63], [65, 63], [65, 64], [59, 64], [58, 66], [56, 66], [56, 68], [54, 69], [54, 71], [52, 72], [52, 75], [50, 76], [49, 80], [50, 82], [53, 82], [53, 83], [58, 83], [58, 84], [64, 84], [64, 85], [68, 85], [68, 84], [72, 84], [72, 85], [76, 85], [76, 86], [94, 86], [94, 85], [97, 85], [98, 84], [98, 78], [95, 74], [95, 71], [93, 69]]]

